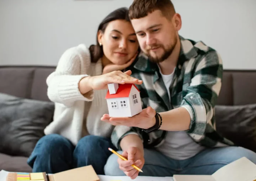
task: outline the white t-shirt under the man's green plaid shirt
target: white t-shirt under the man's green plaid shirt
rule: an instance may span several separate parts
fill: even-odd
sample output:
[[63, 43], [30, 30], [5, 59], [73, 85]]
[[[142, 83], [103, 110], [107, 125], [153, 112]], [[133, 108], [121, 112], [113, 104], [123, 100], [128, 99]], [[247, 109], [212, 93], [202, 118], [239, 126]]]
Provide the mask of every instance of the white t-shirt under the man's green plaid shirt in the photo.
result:
[[[169, 87], [172, 83], [174, 72], [169, 75], [164, 75], [160, 70], [169, 95], [169, 100], [171, 100]], [[191, 114], [192, 113], [190, 113], [190, 115]], [[192, 138], [185, 131], [167, 131], [165, 142], [156, 148], [156, 150], [162, 154], [176, 160], [185, 160], [191, 158], [203, 149], [204, 147], [192, 140]]]

